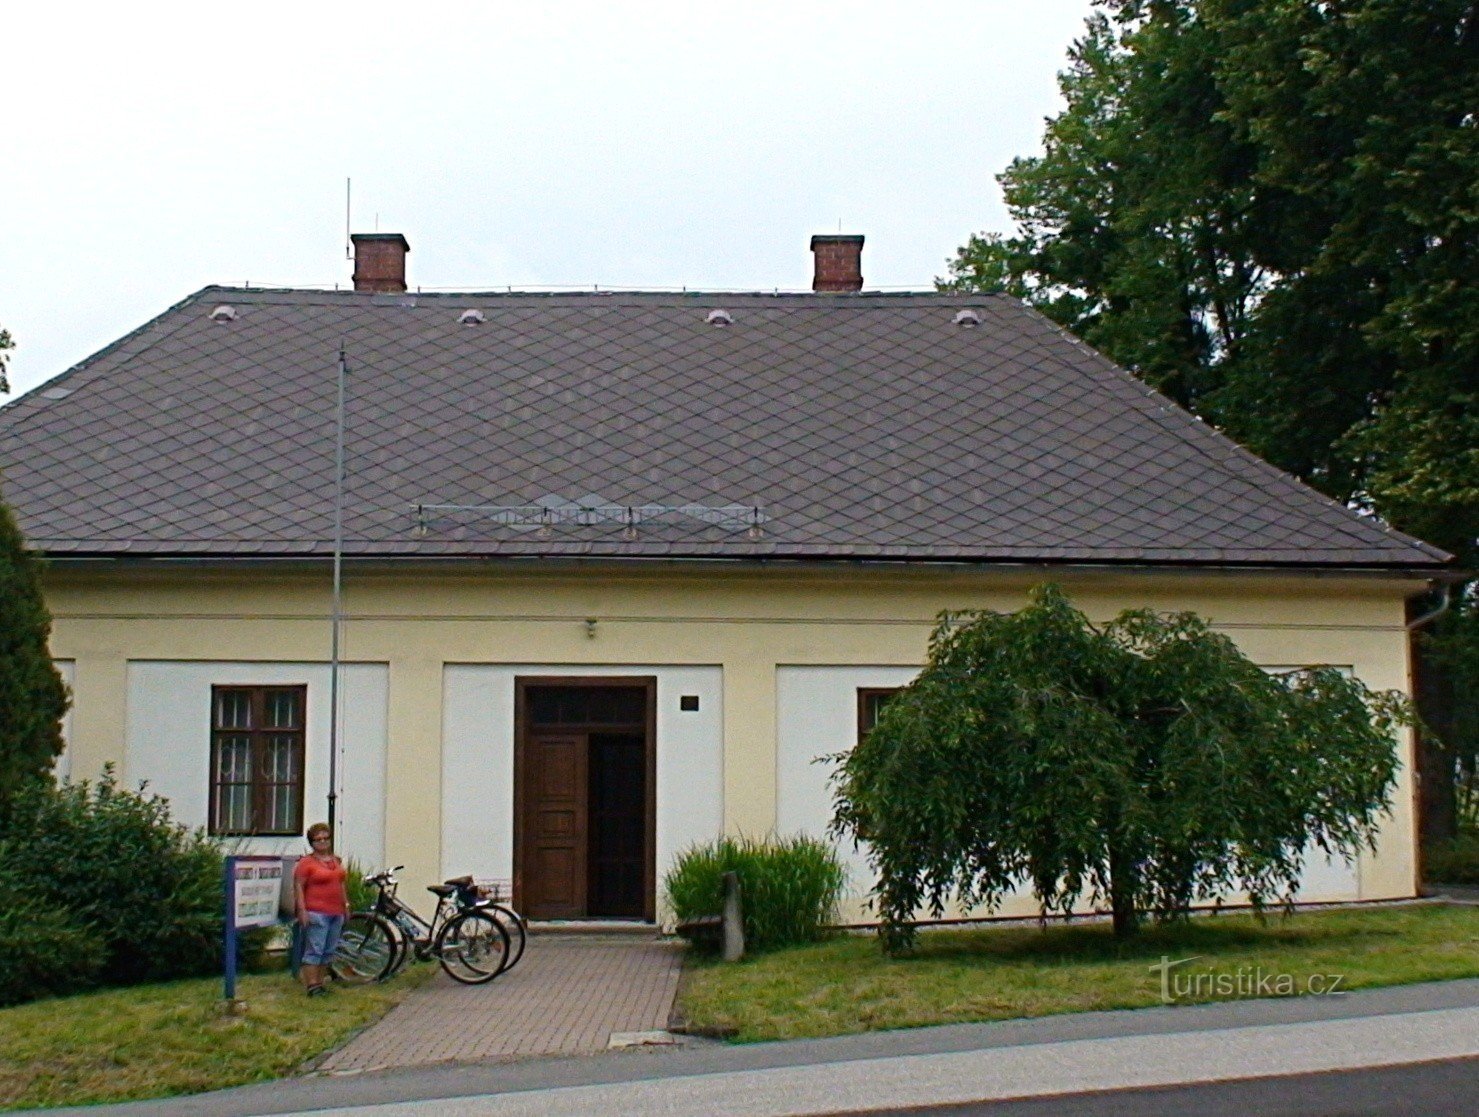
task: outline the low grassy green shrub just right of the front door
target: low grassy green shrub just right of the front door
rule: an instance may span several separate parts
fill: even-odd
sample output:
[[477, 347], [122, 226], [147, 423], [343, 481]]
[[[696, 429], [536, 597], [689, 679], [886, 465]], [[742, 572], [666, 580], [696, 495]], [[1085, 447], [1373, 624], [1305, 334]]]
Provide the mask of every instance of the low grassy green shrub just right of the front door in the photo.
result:
[[[664, 880], [677, 922], [719, 914], [729, 871], [740, 876], [747, 951], [816, 942], [837, 922], [847, 870], [830, 843], [806, 834], [726, 836], [685, 849]], [[701, 948], [714, 944], [711, 937], [692, 941]]]

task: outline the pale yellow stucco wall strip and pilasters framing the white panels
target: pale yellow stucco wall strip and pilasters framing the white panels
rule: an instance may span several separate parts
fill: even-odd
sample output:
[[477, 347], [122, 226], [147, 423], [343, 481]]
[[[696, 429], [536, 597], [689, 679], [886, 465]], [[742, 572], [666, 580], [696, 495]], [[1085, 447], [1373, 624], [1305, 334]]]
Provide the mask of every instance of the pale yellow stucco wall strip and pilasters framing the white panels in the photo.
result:
[[[342, 654], [389, 664], [386, 849], [405, 863], [407, 880], [430, 880], [442, 864], [447, 663], [720, 666], [725, 824], [763, 833], [775, 823], [778, 666], [918, 666], [939, 610], [1018, 608], [1044, 577], [784, 564], [351, 570]], [[1420, 583], [1089, 570], [1052, 577], [1096, 618], [1128, 607], [1194, 610], [1266, 666], [1331, 663], [1373, 688], [1408, 689], [1404, 599]], [[74, 778], [124, 762], [130, 660], [328, 658], [327, 567], [53, 567], [47, 598], [53, 654], [75, 661]], [[595, 636], [587, 620], [598, 621]], [[206, 735], [203, 726], [203, 747]], [[1380, 851], [1359, 865], [1362, 898], [1415, 891], [1411, 762], [1407, 740]]]

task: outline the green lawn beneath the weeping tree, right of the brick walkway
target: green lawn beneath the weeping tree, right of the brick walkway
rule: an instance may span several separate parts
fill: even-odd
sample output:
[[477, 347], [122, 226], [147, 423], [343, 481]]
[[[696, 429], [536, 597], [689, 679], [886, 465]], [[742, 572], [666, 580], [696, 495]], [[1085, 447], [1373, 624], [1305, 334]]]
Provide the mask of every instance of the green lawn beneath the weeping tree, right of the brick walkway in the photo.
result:
[[1263, 996], [1337, 976], [1344, 990], [1479, 976], [1479, 908], [1223, 914], [1128, 944], [1103, 923], [929, 931], [904, 959], [846, 935], [732, 966], [695, 960], [679, 1008], [689, 1030], [741, 1042], [1130, 1009], [1161, 1003], [1151, 966], [1189, 956], [1165, 982], [1179, 1003], [1260, 996], [1260, 976]]

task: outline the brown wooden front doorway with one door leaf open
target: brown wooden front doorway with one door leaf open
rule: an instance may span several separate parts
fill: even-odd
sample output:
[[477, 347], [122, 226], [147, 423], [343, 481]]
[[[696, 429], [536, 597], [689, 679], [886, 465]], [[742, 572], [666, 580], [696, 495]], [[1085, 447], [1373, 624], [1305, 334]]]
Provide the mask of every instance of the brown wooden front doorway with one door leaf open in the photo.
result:
[[515, 898], [529, 919], [655, 917], [655, 679], [516, 682]]

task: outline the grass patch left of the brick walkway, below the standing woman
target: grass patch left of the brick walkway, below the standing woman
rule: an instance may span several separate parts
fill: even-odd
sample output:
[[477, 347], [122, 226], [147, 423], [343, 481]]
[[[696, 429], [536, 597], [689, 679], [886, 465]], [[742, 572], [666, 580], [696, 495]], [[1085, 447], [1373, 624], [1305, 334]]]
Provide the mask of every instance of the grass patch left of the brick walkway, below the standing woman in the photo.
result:
[[246, 1012], [220, 978], [83, 993], [0, 1009], [0, 1108], [163, 1098], [291, 1074], [377, 1021], [435, 972], [309, 999], [285, 972], [248, 975]]

